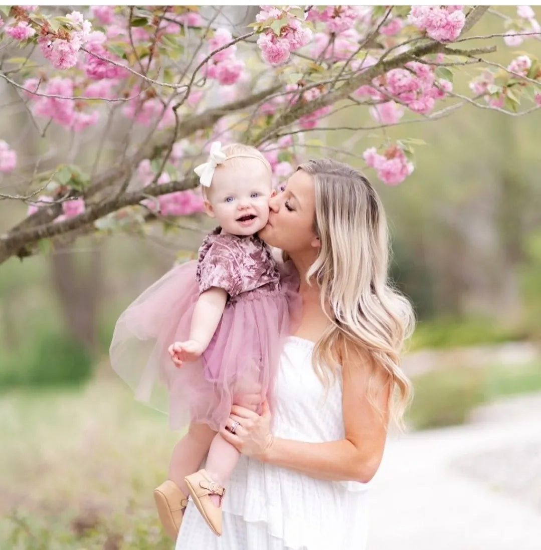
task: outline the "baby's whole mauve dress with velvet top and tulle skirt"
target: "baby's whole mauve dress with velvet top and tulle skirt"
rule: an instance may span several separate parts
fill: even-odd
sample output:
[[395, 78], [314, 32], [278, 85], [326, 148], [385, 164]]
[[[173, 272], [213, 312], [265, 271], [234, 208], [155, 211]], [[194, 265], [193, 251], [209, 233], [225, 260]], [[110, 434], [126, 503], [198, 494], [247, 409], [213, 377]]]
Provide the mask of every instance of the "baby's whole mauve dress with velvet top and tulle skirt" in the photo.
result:
[[[114, 370], [137, 399], [168, 411], [174, 430], [190, 422], [219, 430], [235, 396], [255, 384], [272, 406], [280, 351], [300, 311], [295, 275], [279, 271], [257, 235], [218, 227], [197, 261], [173, 267], [119, 317], [109, 350]], [[177, 368], [167, 349], [189, 339], [197, 299], [212, 287], [228, 293], [222, 319], [200, 360]]]

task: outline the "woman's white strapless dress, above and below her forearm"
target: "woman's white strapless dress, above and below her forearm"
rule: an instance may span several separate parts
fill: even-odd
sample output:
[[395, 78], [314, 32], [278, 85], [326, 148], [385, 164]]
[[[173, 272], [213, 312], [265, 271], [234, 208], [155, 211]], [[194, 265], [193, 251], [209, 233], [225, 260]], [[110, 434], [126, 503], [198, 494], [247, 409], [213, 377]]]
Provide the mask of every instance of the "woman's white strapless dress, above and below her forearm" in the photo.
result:
[[[328, 392], [312, 368], [313, 343], [291, 336], [275, 386], [276, 437], [344, 438], [341, 382]], [[222, 536], [191, 500], [175, 550], [365, 550], [369, 483], [324, 481], [241, 456], [226, 486]]]

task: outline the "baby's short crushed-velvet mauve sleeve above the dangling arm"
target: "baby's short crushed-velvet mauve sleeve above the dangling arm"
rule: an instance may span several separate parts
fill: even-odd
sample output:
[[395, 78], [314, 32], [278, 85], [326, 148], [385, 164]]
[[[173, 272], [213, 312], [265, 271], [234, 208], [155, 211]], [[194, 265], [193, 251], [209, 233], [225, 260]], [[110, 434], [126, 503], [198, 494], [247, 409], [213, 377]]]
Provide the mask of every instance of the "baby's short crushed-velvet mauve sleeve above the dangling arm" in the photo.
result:
[[214, 243], [199, 262], [199, 293], [212, 287], [223, 288], [231, 298], [244, 290], [238, 260], [228, 246]]

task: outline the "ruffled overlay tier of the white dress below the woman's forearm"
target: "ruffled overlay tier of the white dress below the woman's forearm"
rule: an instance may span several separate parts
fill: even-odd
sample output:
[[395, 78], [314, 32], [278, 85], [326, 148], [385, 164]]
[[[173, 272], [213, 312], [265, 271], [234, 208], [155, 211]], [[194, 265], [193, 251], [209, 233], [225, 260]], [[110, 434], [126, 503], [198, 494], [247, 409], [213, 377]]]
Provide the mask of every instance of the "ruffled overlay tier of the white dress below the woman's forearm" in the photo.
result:
[[[317, 480], [245, 457], [228, 482], [224, 513], [292, 550], [364, 548], [369, 484]], [[251, 527], [252, 526], [252, 527]]]

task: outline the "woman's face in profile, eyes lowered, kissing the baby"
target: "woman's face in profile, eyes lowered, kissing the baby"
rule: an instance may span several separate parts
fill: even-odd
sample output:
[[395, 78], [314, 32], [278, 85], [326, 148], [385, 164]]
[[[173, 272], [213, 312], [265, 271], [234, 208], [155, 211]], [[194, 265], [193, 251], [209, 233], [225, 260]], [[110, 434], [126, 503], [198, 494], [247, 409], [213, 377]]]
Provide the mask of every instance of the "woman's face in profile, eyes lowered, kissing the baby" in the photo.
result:
[[269, 200], [269, 221], [260, 237], [270, 246], [286, 252], [310, 250], [319, 246], [314, 233], [316, 195], [310, 174], [299, 170]]

